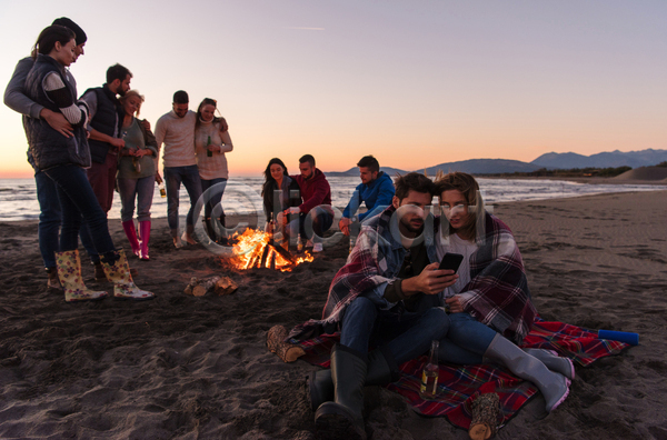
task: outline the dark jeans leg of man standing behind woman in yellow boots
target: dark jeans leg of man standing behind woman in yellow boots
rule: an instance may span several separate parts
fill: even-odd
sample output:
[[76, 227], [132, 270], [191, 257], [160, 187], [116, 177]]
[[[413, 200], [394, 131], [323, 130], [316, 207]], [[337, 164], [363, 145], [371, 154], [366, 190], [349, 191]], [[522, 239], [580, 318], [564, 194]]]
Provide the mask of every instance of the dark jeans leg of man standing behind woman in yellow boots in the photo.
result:
[[39, 251], [42, 254], [44, 268], [54, 268], [54, 253], [58, 252], [58, 234], [62, 219], [62, 211], [58, 201], [58, 188], [41, 171], [34, 173], [34, 183], [37, 186], [37, 200], [39, 201]]

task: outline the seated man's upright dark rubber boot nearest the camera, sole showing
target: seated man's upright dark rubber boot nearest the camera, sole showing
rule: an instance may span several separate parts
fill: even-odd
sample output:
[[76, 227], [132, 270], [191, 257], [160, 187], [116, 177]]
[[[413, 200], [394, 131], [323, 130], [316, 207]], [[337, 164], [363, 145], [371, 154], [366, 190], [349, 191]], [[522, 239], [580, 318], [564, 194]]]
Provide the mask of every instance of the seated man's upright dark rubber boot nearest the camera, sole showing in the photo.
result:
[[322, 403], [315, 413], [317, 438], [366, 440], [364, 429], [364, 384], [367, 362], [362, 354], [336, 344], [331, 349], [332, 402]]

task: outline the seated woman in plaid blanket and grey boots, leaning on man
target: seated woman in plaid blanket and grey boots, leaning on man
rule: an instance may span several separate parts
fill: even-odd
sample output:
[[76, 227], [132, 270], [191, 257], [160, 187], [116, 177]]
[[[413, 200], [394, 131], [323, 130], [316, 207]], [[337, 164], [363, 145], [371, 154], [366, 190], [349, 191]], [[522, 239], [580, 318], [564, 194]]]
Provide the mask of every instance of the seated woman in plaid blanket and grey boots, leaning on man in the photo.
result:
[[519, 248], [509, 228], [486, 212], [475, 178], [451, 172], [436, 179], [441, 216], [437, 252], [464, 256], [458, 280], [441, 293], [450, 327], [440, 341], [442, 362], [492, 361], [540, 390], [547, 412], [569, 392], [573, 363], [551, 351], [521, 350], [536, 316]]

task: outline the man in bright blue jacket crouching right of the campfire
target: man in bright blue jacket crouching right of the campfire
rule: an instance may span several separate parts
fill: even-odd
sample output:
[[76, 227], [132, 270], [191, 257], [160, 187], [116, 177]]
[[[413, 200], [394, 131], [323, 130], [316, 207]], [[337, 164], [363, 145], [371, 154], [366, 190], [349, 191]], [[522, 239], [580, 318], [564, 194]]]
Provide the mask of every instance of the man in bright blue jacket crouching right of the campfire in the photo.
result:
[[[355, 189], [350, 202], [342, 211], [342, 218], [338, 222], [340, 232], [350, 234], [350, 226], [357, 221], [362, 222], [382, 212], [385, 208], [391, 204], [395, 194], [394, 182], [391, 178], [380, 171], [380, 163], [372, 156], [365, 156], [357, 162], [359, 167], [359, 177], [361, 183]], [[366, 212], [355, 216], [361, 202], [366, 203]]]

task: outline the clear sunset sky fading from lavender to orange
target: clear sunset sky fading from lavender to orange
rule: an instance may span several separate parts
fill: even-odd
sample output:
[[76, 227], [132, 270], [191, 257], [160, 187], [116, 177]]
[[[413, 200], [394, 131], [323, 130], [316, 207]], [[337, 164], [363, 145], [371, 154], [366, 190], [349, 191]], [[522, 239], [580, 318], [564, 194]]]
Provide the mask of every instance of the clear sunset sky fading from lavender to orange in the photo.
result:
[[[80, 94], [119, 62], [153, 127], [176, 90], [217, 99], [232, 178], [667, 149], [664, 0], [0, 0], [3, 87], [58, 17], [88, 34]], [[32, 176], [26, 150], [0, 106], [0, 178]]]

